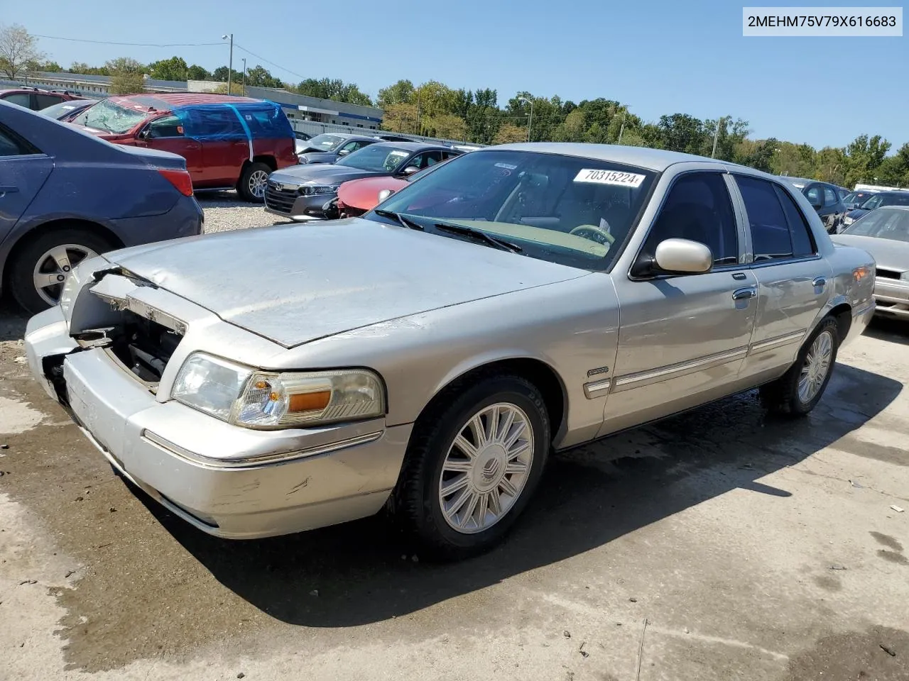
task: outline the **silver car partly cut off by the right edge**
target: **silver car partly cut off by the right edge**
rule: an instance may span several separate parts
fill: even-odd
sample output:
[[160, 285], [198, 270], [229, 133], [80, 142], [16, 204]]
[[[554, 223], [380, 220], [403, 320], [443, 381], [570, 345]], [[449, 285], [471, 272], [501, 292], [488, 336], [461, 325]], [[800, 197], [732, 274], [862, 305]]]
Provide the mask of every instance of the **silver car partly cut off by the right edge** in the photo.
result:
[[909, 206], [884, 206], [853, 222], [834, 242], [874, 256], [874, 299], [882, 315], [909, 320]]

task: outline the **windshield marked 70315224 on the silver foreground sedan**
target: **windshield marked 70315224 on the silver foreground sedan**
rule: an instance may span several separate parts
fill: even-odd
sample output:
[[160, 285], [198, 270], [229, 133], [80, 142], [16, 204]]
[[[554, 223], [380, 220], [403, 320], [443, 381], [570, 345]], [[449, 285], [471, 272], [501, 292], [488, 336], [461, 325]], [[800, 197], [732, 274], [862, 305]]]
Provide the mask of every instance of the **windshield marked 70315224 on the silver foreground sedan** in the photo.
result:
[[[443, 233], [435, 222], [470, 227], [519, 245], [530, 257], [604, 270], [634, 227], [655, 176], [554, 153], [479, 151], [408, 184], [382, 208], [427, 232]], [[368, 219], [387, 220], [375, 213]]]

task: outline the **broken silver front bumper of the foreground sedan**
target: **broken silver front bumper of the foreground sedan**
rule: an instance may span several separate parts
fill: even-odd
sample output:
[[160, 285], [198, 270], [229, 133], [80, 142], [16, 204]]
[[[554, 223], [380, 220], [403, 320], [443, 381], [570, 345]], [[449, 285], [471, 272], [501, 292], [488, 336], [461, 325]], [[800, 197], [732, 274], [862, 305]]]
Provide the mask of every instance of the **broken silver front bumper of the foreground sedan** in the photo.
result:
[[167, 399], [165, 378], [161, 390], [150, 387], [110, 348], [76, 341], [60, 307], [28, 322], [25, 350], [35, 379], [115, 469], [217, 537], [270, 537], [376, 513], [410, 437], [410, 425], [387, 428], [384, 419], [283, 430], [230, 425]]

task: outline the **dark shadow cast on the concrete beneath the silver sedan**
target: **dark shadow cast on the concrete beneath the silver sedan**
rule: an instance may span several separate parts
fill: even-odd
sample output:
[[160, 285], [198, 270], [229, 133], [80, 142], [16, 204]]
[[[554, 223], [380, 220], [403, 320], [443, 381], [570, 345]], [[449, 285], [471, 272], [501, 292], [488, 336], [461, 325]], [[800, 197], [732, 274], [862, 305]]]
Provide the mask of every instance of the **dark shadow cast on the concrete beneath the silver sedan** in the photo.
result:
[[[402, 559], [405, 543], [381, 517], [230, 542], [139, 494], [216, 579], [269, 616], [310, 627], [355, 626], [601, 547], [731, 489], [791, 496], [757, 480], [842, 439], [900, 390], [896, 380], [838, 365], [824, 400], [806, 419], [766, 417], [752, 391], [560, 454], [504, 545], [456, 565], [414, 562], [410, 553]], [[848, 450], [852, 440], [837, 447]], [[864, 456], [860, 444], [855, 453]]]

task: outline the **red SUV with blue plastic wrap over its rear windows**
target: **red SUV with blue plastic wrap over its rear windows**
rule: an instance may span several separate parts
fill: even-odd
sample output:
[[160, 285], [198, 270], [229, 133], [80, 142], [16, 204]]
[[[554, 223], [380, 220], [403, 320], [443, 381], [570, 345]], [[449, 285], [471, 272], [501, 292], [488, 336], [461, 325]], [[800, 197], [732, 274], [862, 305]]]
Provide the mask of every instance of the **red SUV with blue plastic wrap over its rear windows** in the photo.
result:
[[262, 202], [268, 174], [297, 163], [294, 130], [279, 104], [226, 94], [108, 97], [71, 122], [108, 142], [186, 159], [193, 189], [236, 189]]

